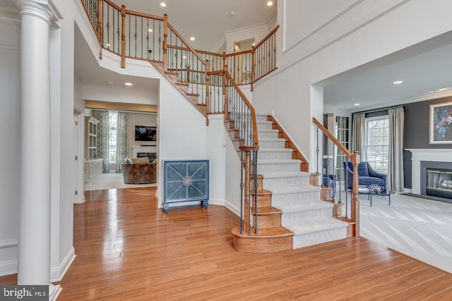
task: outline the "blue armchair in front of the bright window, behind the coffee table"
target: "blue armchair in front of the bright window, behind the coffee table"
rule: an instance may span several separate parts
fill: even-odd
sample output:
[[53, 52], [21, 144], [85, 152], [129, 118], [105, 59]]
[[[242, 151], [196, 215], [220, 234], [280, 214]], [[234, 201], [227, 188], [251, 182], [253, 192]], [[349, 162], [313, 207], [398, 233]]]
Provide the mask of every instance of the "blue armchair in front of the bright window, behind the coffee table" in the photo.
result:
[[[353, 165], [352, 162], [347, 161], [347, 164], [344, 162], [345, 170], [347, 171], [347, 178], [346, 178], [346, 187], [349, 190], [352, 190], [353, 185]], [[388, 188], [388, 185], [386, 183], [387, 175], [384, 173], [379, 173], [377, 171], [374, 171], [373, 168], [371, 168], [369, 162], [362, 161], [358, 164], [358, 185], [364, 185], [367, 188], [371, 184], [376, 184], [381, 187], [381, 192], [386, 192], [386, 189]]]

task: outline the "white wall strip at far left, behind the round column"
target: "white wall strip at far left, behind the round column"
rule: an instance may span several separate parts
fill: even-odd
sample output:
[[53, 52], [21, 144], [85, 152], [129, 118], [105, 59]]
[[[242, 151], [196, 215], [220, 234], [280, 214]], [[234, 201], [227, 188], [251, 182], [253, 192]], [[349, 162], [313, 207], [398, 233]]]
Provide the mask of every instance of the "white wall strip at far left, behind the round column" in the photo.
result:
[[[20, 172], [20, 23], [0, 8], [0, 276], [17, 272]], [[31, 152], [32, 153], [32, 152]]]

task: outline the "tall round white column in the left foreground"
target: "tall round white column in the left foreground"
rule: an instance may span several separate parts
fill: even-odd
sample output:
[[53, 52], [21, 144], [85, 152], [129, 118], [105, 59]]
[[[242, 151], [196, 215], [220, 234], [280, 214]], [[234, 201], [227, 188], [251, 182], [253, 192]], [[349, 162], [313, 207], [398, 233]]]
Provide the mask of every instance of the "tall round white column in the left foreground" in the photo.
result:
[[20, 209], [18, 285], [50, 285], [50, 74], [52, 10], [20, 9]]

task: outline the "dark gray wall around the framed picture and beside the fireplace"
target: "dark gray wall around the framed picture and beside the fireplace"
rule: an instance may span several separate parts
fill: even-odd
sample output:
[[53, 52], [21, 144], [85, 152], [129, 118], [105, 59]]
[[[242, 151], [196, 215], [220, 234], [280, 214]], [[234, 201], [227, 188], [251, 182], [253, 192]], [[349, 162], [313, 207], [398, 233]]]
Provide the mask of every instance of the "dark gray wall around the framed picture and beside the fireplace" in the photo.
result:
[[[452, 97], [404, 104], [405, 133], [403, 149], [449, 149], [452, 145], [429, 145], [430, 104], [452, 102]], [[405, 188], [411, 189], [411, 152], [403, 151], [403, 171]]]

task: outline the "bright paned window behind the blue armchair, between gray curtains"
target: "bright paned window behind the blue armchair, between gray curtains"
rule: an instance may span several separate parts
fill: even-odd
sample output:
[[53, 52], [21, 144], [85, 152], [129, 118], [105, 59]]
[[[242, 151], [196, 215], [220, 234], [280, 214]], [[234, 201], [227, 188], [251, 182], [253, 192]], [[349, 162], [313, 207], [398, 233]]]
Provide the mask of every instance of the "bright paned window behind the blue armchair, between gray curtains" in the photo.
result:
[[388, 172], [389, 118], [366, 118], [366, 161], [376, 171]]

